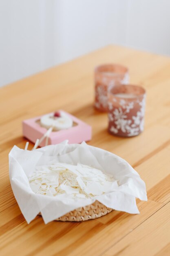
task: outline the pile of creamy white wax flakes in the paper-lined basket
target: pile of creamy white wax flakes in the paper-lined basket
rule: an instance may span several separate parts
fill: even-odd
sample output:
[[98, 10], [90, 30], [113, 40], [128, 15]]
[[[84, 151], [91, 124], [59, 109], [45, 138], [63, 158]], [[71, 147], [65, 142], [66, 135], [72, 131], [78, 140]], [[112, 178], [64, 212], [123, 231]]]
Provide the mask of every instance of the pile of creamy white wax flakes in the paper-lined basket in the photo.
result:
[[34, 193], [49, 196], [69, 194], [77, 198], [102, 195], [117, 185], [113, 175], [83, 164], [64, 163], [37, 166], [29, 182]]

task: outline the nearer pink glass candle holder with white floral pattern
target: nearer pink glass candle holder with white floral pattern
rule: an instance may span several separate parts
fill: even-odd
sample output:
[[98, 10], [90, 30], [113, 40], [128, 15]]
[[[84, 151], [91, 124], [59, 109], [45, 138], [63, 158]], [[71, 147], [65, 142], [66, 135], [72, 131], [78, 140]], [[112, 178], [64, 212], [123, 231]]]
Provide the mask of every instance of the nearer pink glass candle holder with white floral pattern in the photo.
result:
[[115, 85], [108, 89], [108, 132], [123, 137], [144, 130], [146, 91], [136, 85]]

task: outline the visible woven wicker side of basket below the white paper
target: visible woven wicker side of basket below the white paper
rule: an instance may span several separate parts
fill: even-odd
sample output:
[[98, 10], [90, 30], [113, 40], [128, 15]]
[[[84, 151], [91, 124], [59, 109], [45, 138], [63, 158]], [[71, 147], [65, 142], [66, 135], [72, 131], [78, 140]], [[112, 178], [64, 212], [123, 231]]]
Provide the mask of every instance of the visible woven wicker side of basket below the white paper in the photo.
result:
[[[95, 201], [85, 207], [79, 207], [74, 211], [70, 211], [66, 215], [56, 219], [60, 221], [85, 221], [99, 218], [110, 213], [113, 209], [106, 207], [104, 204]], [[41, 215], [41, 214], [40, 214]]]

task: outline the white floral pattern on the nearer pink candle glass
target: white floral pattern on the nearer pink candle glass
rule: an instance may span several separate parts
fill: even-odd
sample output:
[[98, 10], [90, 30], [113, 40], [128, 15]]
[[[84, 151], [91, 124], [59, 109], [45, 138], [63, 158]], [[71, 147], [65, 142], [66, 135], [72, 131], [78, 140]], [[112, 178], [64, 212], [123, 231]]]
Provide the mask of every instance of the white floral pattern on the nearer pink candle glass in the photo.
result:
[[[118, 101], [119, 108], [114, 108], [109, 111], [108, 119], [109, 122], [112, 122], [109, 130], [117, 134], [119, 131], [125, 134], [125, 136], [135, 136], [144, 130], [144, 111], [145, 111], [145, 95], [142, 101], [137, 99], [135, 102], [126, 102], [124, 99], [119, 99]], [[131, 110], [134, 112], [134, 104], [139, 105], [139, 111], [136, 112], [136, 115], [132, 115], [131, 119], [128, 119], [128, 113]]]

